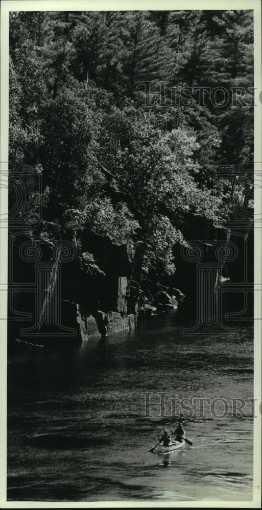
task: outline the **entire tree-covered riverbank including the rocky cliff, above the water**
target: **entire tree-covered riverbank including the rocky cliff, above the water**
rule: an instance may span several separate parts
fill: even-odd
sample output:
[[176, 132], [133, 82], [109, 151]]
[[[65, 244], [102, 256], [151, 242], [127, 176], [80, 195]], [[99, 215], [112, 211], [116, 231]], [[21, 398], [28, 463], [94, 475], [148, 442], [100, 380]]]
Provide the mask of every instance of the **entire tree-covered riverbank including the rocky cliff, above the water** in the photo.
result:
[[[163, 104], [163, 83], [216, 88], [216, 104], [169, 94]], [[234, 196], [243, 204], [253, 179], [252, 85], [249, 10], [10, 13], [10, 175], [18, 182], [27, 167], [40, 183], [23, 179], [25, 230], [10, 227], [11, 270], [34, 281], [23, 243], [53, 263], [40, 317], [34, 296], [13, 291], [15, 310], [34, 317], [9, 326], [11, 341], [21, 325], [29, 343], [63, 338], [63, 328], [69, 339], [70, 328], [78, 341], [103, 337], [196, 294], [181, 247], [204, 240], [212, 259], [207, 241], [229, 240], [232, 183], [216, 174], [242, 172]], [[16, 200], [11, 189], [10, 211]], [[61, 242], [68, 260], [57, 256]], [[226, 269], [223, 278], [234, 276]], [[52, 329], [45, 318], [56, 299]]]

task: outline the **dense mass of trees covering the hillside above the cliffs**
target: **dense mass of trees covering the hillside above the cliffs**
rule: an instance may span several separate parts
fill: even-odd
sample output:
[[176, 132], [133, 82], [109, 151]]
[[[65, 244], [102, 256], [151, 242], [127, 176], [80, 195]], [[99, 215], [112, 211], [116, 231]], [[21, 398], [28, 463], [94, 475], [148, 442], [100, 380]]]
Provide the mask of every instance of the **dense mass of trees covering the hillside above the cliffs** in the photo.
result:
[[29, 224], [42, 200], [44, 219], [130, 256], [146, 241], [145, 272], [172, 274], [188, 218], [230, 214], [219, 165], [252, 160], [252, 73], [251, 11], [11, 13], [10, 161], [43, 180]]

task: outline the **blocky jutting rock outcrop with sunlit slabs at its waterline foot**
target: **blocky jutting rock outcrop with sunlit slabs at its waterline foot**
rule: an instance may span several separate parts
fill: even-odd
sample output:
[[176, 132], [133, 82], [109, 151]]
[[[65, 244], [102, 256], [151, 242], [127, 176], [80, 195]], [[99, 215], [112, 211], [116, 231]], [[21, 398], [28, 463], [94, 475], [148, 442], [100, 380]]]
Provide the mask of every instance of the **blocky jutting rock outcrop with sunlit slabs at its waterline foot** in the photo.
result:
[[[68, 293], [77, 303], [77, 322], [82, 339], [99, 337], [133, 329], [136, 325], [139, 284], [134, 274], [140, 270], [144, 243], [137, 243], [134, 260], [130, 261], [127, 245], [108, 236], [88, 231], [76, 233], [78, 259], [77, 279]], [[91, 255], [95, 264], [90, 262]], [[81, 257], [89, 260], [79, 266]], [[139, 263], [138, 263], [139, 261]], [[70, 274], [63, 280], [70, 280]], [[65, 293], [66, 295], [66, 293]]]

